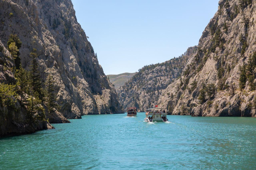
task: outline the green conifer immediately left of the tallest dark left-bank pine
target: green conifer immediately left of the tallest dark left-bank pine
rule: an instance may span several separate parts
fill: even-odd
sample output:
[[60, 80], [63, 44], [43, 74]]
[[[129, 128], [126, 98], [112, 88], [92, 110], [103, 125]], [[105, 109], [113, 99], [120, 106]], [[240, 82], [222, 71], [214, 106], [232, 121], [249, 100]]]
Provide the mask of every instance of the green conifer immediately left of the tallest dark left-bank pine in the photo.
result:
[[19, 87], [18, 93], [21, 96], [20, 103], [22, 104], [23, 100], [26, 100], [24, 94], [26, 93], [28, 86], [27, 71], [20, 67], [20, 69], [15, 73], [15, 78], [17, 80], [17, 86]]

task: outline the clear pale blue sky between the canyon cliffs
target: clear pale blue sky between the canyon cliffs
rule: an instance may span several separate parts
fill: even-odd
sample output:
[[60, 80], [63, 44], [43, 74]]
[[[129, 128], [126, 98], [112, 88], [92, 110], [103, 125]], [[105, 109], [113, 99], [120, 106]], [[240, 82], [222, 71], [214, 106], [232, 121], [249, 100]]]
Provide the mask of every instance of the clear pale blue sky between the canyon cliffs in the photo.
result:
[[104, 73], [136, 72], [198, 41], [219, 0], [72, 0]]

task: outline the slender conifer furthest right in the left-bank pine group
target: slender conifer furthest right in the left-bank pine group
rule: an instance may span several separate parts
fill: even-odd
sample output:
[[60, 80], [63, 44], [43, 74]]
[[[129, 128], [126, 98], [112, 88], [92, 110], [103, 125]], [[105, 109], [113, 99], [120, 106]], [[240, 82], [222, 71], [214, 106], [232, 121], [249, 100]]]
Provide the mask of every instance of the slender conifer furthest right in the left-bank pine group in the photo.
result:
[[53, 76], [49, 74], [46, 79], [46, 98], [47, 98], [47, 108], [49, 112], [54, 112], [54, 108], [57, 108], [58, 105], [56, 104], [56, 93], [54, 93], [54, 85], [53, 85]]

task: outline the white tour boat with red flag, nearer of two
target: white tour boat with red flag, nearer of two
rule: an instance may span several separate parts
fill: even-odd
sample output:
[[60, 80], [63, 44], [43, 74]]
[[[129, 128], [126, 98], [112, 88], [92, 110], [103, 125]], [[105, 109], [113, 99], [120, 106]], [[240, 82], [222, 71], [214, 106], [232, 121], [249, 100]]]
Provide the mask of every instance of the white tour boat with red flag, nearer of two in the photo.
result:
[[167, 122], [167, 113], [162, 108], [147, 109], [145, 122]]

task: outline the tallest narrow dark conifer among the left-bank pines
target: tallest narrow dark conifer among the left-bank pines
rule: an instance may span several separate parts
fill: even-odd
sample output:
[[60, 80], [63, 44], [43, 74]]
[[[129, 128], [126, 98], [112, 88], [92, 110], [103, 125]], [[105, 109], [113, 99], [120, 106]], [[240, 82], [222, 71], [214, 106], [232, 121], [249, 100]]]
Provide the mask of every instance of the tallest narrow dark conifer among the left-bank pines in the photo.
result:
[[31, 64], [29, 66], [29, 85], [31, 87], [32, 95], [35, 97], [38, 97], [40, 100], [43, 99], [43, 92], [42, 92], [42, 86], [41, 86], [41, 77], [38, 70], [38, 63], [37, 63], [37, 53], [36, 49], [33, 50], [33, 52], [30, 52], [31, 57]]

